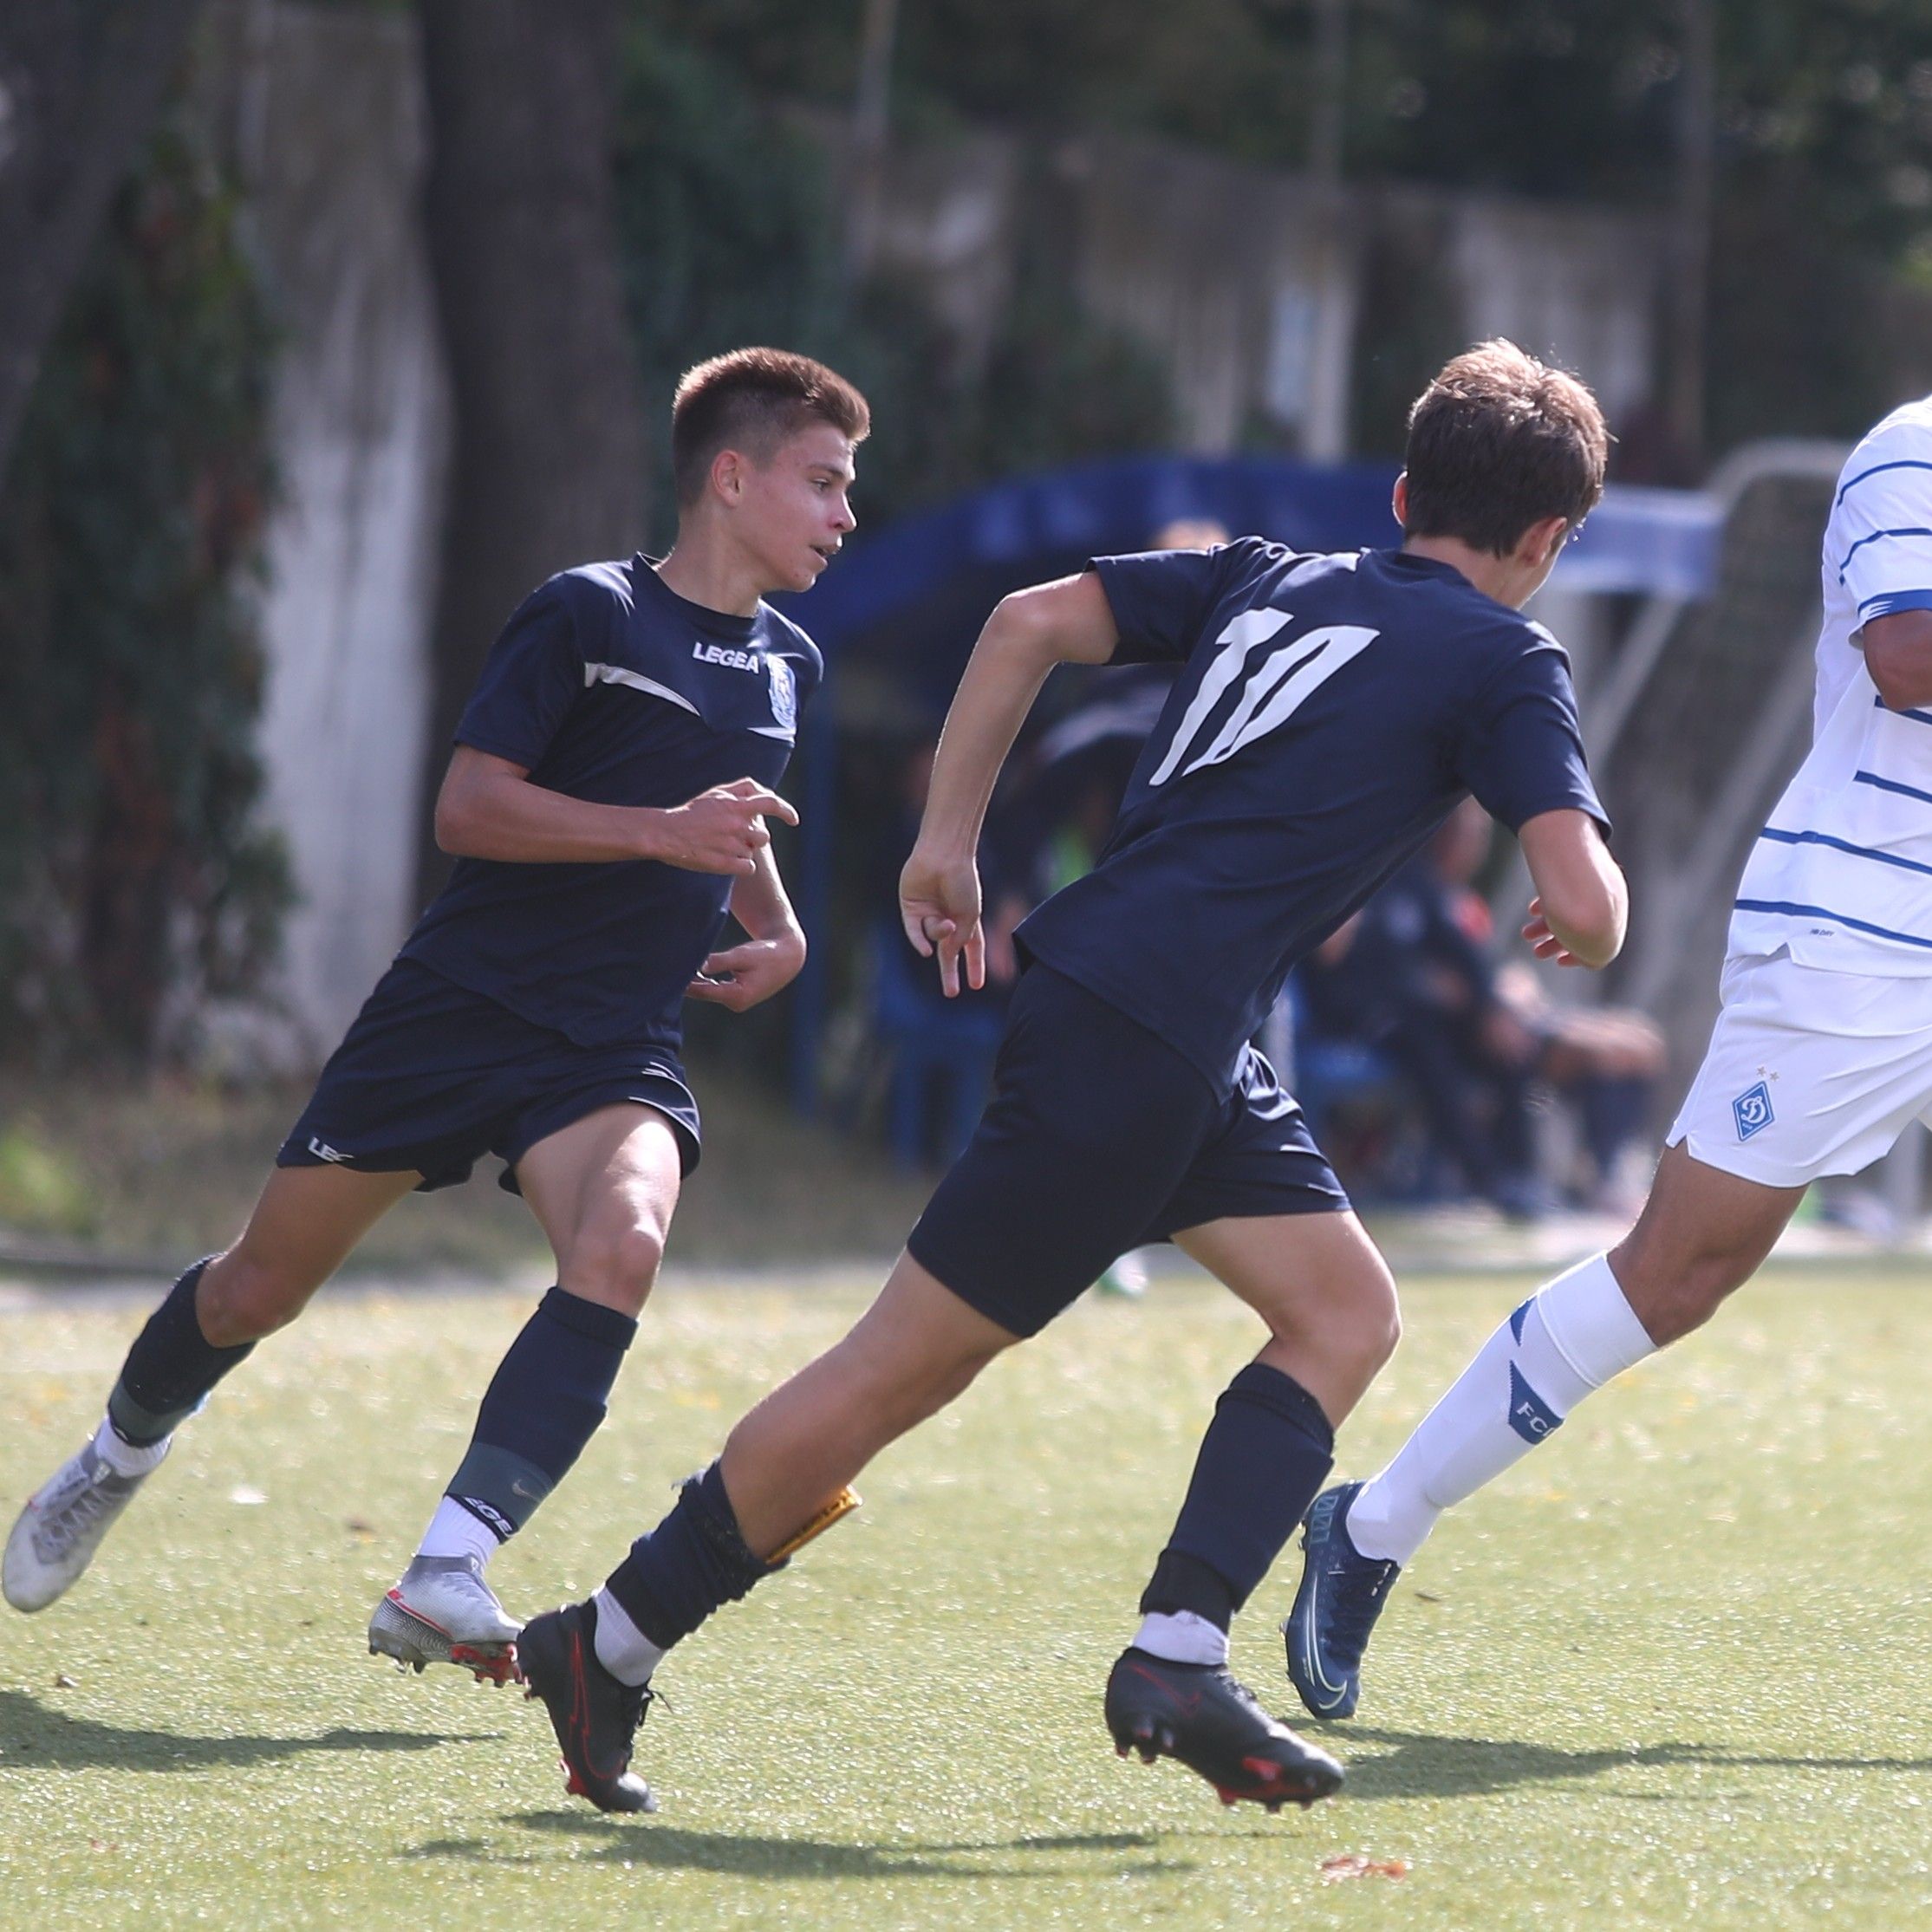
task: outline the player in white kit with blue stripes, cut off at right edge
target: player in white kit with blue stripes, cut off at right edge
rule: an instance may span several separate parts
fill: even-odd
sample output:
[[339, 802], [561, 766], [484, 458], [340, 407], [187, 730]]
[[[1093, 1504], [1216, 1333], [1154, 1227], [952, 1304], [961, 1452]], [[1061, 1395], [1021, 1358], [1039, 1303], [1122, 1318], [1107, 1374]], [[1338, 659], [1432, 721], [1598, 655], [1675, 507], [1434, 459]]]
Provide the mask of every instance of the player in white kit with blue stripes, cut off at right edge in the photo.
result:
[[[1553, 941], [1544, 958], [1565, 960]], [[1285, 1625], [1302, 1702], [1347, 1718], [1389, 1586], [1435, 1519], [1756, 1273], [1804, 1188], [1932, 1124], [1932, 396], [1839, 475], [1812, 752], [1752, 850], [1723, 1010], [1625, 1240], [1540, 1289], [1395, 1461], [1308, 1511]]]

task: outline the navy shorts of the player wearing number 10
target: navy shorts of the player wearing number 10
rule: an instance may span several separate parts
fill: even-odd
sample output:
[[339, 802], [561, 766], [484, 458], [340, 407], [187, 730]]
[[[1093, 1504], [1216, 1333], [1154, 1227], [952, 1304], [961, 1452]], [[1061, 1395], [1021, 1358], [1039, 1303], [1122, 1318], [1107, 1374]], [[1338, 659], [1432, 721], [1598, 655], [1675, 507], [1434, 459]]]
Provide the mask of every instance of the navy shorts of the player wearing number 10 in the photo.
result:
[[1225, 1099], [1165, 1039], [1034, 964], [993, 1099], [906, 1246], [962, 1302], [1036, 1335], [1128, 1248], [1244, 1215], [1349, 1206], [1260, 1053]]

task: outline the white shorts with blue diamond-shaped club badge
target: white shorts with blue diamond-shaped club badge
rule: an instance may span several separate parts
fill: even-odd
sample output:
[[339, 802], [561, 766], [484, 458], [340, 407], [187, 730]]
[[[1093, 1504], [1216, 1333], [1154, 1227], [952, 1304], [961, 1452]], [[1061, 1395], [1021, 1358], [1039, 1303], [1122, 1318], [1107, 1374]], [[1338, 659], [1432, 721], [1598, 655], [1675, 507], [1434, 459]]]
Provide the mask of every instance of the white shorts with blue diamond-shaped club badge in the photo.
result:
[[1787, 952], [1723, 968], [1723, 1010], [1665, 1146], [1768, 1188], [1855, 1175], [1932, 1126], [1932, 978], [1872, 980]]

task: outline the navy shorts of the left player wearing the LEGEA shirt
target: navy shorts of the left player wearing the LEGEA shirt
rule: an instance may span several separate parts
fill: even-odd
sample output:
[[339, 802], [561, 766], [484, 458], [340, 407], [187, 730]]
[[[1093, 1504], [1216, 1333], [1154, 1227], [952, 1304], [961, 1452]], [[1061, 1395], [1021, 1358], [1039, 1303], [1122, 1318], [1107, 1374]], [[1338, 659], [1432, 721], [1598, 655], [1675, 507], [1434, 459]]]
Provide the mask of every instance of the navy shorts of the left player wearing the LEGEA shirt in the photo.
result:
[[618, 1101], [663, 1113], [684, 1173], [697, 1165], [697, 1101], [674, 1053], [580, 1047], [402, 958], [328, 1057], [274, 1165], [419, 1173], [427, 1192], [495, 1153], [498, 1184], [520, 1194], [516, 1163], [539, 1140]]

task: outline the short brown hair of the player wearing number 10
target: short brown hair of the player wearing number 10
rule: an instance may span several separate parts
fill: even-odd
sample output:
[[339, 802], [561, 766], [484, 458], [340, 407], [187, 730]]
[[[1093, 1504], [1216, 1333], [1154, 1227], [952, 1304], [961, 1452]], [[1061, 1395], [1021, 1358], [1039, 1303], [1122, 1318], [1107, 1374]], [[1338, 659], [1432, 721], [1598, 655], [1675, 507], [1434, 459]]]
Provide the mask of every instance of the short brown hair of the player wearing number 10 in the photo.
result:
[[1501, 338], [1457, 355], [1408, 412], [1405, 537], [1507, 556], [1546, 516], [1580, 524], [1604, 495], [1596, 396]]

